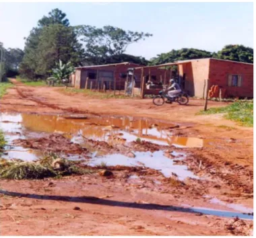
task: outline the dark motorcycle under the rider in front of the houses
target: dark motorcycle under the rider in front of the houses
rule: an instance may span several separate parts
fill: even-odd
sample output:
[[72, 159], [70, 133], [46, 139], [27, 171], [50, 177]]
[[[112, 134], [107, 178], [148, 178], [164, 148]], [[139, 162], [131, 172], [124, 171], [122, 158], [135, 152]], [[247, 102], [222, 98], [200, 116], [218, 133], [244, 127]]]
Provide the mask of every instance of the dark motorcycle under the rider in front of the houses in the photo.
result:
[[156, 106], [162, 106], [164, 102], [177, 102], [178, 104], [186, 105], [189, 103], [189, 95], [181, 91], [181, 93], [178, 93], [175, 97], [169, 97], [168, 90], [162, 90], [153, 98], [153, 103]]

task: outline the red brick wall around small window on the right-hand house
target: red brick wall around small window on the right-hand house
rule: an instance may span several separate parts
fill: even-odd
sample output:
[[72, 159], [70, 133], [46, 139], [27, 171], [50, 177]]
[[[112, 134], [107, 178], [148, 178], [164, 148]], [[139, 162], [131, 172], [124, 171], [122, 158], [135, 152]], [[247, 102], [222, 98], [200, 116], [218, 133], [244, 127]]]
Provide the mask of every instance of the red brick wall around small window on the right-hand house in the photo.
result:
[[[241, 75], [241, 87], [228, 86], [228, 75]], [[210, 59], [210, 86], [227, 90], [228, 97], [253, 97], [253, 64]]]

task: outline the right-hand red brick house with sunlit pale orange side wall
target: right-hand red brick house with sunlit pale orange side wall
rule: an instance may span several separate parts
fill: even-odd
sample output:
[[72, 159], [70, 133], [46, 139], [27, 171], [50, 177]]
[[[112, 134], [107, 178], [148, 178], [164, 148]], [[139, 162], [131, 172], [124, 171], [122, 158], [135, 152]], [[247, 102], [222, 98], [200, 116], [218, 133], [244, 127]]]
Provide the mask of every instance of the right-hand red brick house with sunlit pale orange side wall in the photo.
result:
[[226, 61], [217, 58], [201, 58], [177, 61], [179, 83], [189, 95], [205, 95], [205, 79], [210, 87], [218, 85], [226, 89], [226, 97], [253, 97], [253, 64]]

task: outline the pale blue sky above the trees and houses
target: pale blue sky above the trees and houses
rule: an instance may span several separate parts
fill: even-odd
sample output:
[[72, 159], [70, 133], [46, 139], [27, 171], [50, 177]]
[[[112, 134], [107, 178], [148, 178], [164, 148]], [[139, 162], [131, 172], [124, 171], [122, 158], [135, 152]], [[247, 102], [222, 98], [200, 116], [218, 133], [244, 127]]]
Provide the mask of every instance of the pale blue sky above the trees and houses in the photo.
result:
[[153, 34], [127, 48], [127, 54], [146, 59], [181, 48], [253, 48], [253, 3], [0, 3], [0, 42], [24, 49], [24, 37], [54, 8], [67, 14], [71, 26], [110, 25]]

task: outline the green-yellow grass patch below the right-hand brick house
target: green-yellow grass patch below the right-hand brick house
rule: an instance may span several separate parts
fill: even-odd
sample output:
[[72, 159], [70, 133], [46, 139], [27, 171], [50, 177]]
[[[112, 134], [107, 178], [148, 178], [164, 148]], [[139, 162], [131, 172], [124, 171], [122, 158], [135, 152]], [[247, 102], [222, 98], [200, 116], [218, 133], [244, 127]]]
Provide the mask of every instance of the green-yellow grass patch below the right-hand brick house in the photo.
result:
[[234, 102], [222, 108], [201, 110], [199, 115], [224, 113], [224, 118], [239, 122], [242, 126], [253, 126], [253, 102]]

